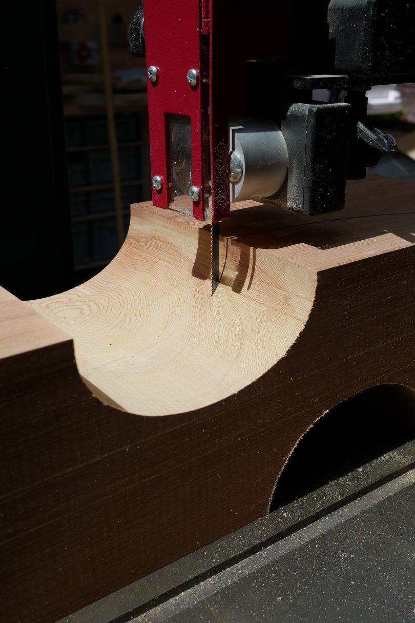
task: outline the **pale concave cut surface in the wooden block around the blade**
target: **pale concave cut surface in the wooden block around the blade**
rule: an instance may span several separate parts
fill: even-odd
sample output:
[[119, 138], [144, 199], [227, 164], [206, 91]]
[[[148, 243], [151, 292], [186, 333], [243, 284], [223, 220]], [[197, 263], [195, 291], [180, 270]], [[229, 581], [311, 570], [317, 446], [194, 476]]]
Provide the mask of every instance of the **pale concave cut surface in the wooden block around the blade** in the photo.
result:
[[212, 297], [210, 227], [139, 204], [105, 270], [30, 306], [73, 338], [80, 374], [107, 404], [146, 416], [194, 412], [281, 359], [314, 300], [312, 270], [233, 238], [221, 256]]

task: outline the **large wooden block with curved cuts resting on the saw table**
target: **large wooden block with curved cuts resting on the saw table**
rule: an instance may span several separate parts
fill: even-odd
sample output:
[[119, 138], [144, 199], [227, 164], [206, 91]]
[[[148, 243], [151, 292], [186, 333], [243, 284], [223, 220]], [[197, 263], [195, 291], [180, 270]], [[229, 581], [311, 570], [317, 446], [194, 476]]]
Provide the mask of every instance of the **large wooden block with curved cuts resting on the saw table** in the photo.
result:
[[55, 621], [265, 515], [347, 397], [398, 384], [415, 411], [414, 203], [371, 177], [314, 219], [236, 204], [213, 297], [210, 227], [137, 204], [90, 281], [1, 291], [4, 621]]

